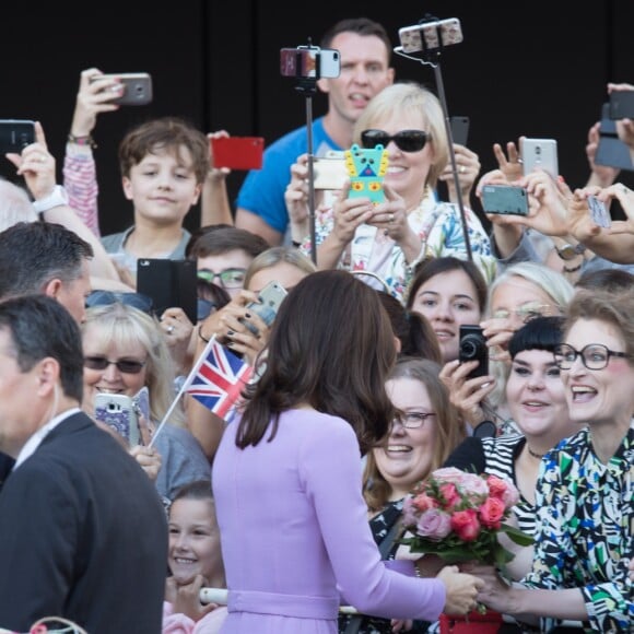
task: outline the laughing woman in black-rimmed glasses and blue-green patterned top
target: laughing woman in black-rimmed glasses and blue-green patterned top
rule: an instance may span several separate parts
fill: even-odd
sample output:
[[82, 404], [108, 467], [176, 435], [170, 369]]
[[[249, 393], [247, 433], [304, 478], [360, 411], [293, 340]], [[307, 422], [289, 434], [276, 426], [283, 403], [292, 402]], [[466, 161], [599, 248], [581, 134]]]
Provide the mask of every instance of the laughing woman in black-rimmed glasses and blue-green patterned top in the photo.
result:
[[634, 296], [578, 291], [555, 348], [570, 416], [583, 425], [541, 461], [532, 567], [520, 586], [491, 570], [480, 600], [550, 631], [559, 620], [632, 632]]

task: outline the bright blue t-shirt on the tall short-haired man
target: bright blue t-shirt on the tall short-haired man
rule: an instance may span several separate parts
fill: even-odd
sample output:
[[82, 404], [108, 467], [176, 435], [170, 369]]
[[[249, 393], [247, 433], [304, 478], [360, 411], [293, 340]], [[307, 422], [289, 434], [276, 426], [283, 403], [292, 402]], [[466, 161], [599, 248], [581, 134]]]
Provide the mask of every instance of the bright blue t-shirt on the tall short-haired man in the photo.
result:
[[[324, 156], [328, 150], [342, 150], [324, 129], [324, 117], [313, 121], [313, 154]], [[267, 224], [284, 234], [289, 225], [289, 212], [284, 191], [291, 180], [291, 165], [297, 156], [308, 151], [306, 126], [297, 128], [266, 150], [261, 169], [251, 169], [237, 196], [236, 207], [259, 215]]]

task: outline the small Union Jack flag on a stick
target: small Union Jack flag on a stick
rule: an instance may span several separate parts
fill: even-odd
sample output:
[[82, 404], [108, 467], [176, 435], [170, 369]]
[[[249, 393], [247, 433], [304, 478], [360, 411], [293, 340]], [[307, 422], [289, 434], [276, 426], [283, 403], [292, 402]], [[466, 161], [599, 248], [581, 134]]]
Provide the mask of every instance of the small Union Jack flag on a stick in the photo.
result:
[[211, 339], [191, 371], [185, 390], [224, 419], [240, 398], [240, 391], [248, 384], [253, 369], [248, 363]]

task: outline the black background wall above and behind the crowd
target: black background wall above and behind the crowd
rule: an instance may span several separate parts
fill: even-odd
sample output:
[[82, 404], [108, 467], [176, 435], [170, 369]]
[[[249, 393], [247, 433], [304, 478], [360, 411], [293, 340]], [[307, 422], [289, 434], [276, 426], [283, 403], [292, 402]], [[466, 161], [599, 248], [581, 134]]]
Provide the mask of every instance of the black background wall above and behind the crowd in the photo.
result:
[[[70, 4], [70, 3], [69, 3]], [[74, 3], [73, 3], [74, 4]], [[121, 193], [117, 144], [146, 118], [179, 115], [202, 131], [260, 134], [267, 143], [305, 124], [304, 97], [293, 80], [279, 75], [279, 49], [318, 44], [342, 17], [367, 15], [381, 22], [394, 45], [398, 30], [425, 13], [459, 17], [463, 43], [441, 58], [449, 114], [471, 119], [469, 146], [483, 172], [495, 167], [494, 142], [520, 134], [553, 137], [560, 172], [575, 187], [585, 184], [588, 128], [598, 119], [609, 81], [634, 82], [634, 2], [594, 0], [582, 4], [533, 0], [298, 3], [289, 0], [188, 0], [180, 3], [9, 3], [0, 38], [1, 118], [42, 121], [61, 178], [81, 70], [148, 71], [154, 102], [102, 115], [94, 136], [104, 234], [131, 223]], [[435, 90], [433, 69], [395, 56], [397, 78]], [[326, 101], [313, 101], [314, 115]], [[13, 168], [0, 158], [0, 173]], [[228, 180], [232, 200], [243, 173]], [[633, 173], [620, 180], [633, 185]], [[195, 209], [187, 226], [199, 223]]]

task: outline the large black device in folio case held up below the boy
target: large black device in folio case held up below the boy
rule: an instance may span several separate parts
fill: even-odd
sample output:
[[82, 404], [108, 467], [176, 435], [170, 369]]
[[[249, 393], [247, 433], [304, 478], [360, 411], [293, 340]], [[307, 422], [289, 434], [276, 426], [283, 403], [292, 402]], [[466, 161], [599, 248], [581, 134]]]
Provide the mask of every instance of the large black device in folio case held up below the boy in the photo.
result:
[[137, 292], [152, 298], [161, 317], [166, 308], [178, 306], [191, 324], [198, 321], [198, 277], [196, 260], [140, 258], [137, 261]]

